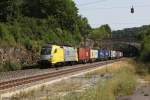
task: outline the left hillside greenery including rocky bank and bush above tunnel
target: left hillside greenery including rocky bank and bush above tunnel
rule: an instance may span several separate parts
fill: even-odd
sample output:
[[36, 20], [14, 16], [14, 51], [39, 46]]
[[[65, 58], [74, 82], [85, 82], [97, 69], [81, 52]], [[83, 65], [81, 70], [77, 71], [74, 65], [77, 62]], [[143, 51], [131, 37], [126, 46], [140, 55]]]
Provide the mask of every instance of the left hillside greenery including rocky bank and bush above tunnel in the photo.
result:
[[73, 0], [0, 0], [0, 69], [36, 63], [45, 43], [80, 47], [110, 34], [108, 25], [92, 29], [78, 13]]

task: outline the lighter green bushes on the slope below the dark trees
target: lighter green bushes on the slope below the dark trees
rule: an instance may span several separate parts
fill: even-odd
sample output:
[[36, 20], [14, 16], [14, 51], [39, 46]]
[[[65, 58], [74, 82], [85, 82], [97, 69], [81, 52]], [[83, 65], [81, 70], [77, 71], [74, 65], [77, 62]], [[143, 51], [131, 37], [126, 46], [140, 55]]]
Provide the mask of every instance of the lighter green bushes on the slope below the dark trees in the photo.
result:
[[36, 44], [33, 42], [39, 40], [41, 43], [51, 42], [78, 46], [82, 36], [79, 29], [76, 31], [62, 29], [54, 17], [45, 19], [19, 17], [12, 22], [0, 24], [0, 40], [4, 41], [6, 46], [22, 44], [28, 50], [32, 50], [35, 49]]

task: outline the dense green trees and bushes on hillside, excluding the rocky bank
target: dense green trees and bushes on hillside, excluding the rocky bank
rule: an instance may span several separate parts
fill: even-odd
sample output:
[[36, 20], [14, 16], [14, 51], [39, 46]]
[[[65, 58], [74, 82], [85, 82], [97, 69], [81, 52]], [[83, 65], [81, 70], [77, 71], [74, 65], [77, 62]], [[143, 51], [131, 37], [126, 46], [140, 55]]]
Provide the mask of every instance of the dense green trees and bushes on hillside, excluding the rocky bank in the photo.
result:
[[46, 42], [79, 45], [91, 29], [72, 0], [1, 0], [0, 45], [39, 50]]

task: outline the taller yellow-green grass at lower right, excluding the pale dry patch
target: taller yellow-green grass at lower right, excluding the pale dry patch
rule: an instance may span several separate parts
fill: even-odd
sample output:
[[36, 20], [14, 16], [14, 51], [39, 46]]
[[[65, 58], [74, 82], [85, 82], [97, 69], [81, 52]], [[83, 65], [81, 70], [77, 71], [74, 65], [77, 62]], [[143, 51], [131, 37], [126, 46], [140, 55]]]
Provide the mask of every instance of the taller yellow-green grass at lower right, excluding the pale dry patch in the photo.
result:
[[122, 62], [116, 67], [104, 68], [87, 75], [92, 76], [108, 72], [113, 75], [111, 79], [100, 81], [94, 88], [90, 88], [83, 93], [70, 93], [64, 97], [64, 100], [116, 100], [116, 96], [132, 94], [136, 86], [136, 75], [131, 64]]

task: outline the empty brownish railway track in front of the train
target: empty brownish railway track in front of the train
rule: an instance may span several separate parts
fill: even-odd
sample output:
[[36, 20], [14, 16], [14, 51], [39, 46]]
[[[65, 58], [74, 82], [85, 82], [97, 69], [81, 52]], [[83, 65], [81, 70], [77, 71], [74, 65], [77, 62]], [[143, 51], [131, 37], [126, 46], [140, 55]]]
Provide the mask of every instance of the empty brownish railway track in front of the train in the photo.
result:
[[58, 76], [99, 67], [99, 66], [110, 64], [110, 63], [120, 61], [120, 60], [121, 59], [104, 61], [104, 62], [96, 62], [96, 63], [92, 63], [92, 64], [81, 65], [81, 66], [75, 67], [75, 68], [62, 69], [62, 70], [57, 70], [55, 72], [49, 72], [49, 73], [39, 74], [39, 75], [35, 75], [35, 76], [29, 76], [29, 77], [25, 77], [25, 78], [18, 78], [18, 79], [3, 81], [3, 82], [0, 82], [0, 91], [11, 89], [11, 88], [17, 87], [17, 86], [23, 86], [23, 85], [26, 85], [29, 83], [34, 83], [34, 82], [41, 81], [44, 79], [55, 78]]

